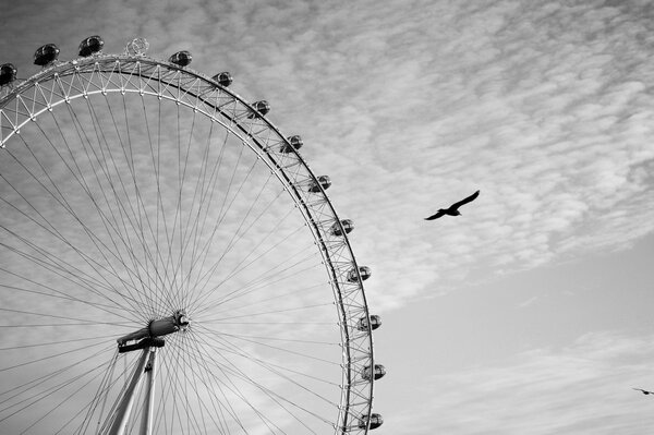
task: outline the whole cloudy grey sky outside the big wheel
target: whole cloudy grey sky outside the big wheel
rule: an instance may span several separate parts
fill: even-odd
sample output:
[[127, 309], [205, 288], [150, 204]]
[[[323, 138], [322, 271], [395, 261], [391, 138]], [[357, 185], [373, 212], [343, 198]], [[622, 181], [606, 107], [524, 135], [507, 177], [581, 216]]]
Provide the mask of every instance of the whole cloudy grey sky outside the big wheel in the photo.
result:
[[24, 0], [0, 62], [145, 37], [267, 99], [373, 270], [374, 433], [629, 435], [654, 423], [631, 389], [654, 388], [652, 23], [644, 0]]

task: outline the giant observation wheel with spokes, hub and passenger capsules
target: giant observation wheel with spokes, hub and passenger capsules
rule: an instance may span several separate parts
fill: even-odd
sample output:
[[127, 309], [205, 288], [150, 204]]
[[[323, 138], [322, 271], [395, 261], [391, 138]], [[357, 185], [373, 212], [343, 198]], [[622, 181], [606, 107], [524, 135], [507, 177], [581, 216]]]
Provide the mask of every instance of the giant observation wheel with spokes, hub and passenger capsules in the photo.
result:
[[0, 433], [365, 434], [363, 281], [299, 149], [180, 51], [0, 67]]

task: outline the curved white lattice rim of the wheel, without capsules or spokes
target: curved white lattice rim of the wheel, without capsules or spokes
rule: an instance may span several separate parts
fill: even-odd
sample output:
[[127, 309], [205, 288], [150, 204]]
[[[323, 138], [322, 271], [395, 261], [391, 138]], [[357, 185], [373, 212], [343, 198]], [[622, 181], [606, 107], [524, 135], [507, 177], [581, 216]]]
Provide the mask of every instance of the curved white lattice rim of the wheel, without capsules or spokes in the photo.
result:
[[[362, 374], [374, 366], [373, 325], [363, 290], [364, 278], [347, 235], [348, 223], [338, 217], [318, 178], [290, 146], [289, 138], [258, 114], [253, 105], [187, 68], [143, 55], [100, 55], [52, 64], [10, 90], [0, 100], [0, 145], [11, 146], [11, 141], [21, 137], [22, 130], [29, 124], [38, 124], [41, 117], [75, 100], [111, 94], [174, 102], [216, 122], [229, 130], [228, 134], [239, 136], [283, 186], [311, 231], [339, 313], [341, 394], [331, 422], [332, 433], [367, 433], [375, 377]], [[286, 147], [284, 153], [281, 147]], [[310, 184], [317, 189], [307, 192]], [[3, 365], [0, 370], [11, 373], [13, 366]], [[13, 404], [5, 415], [15, 409]]]

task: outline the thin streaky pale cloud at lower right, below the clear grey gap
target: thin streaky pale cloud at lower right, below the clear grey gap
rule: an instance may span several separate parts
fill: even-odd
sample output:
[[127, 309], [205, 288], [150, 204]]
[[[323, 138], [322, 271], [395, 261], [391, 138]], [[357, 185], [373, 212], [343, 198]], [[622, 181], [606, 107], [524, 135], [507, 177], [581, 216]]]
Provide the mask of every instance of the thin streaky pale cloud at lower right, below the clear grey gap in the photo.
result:
[[423, 379], [419, 409], [388, 419], [414, 434], [637, 434], [651, 400], [631, 388], [651, 378], [654, 337], [588, 334], [562, 349]]

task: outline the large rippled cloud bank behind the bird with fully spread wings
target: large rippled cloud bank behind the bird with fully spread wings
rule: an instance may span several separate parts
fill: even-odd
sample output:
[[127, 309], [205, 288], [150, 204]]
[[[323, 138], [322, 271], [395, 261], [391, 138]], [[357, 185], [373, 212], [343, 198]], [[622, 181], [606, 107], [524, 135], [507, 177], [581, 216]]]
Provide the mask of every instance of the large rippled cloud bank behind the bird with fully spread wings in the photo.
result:
[[[355, 220], [353, 246], [379, 279], [368, 285], [379, 307], [455, 289], [475, 269], [629, 247], [654, 229], [646, 4], [95, 8], [93, 21], [81, 20], [90, 7], [8, 16], [33, 29], [83, 23], [52, 33], [62, 58], [89, 32], [107, 51], [135, 36], [159, 58], [190, 49], [192, 68], [229, 70], [239, 94], [268, 99], [269, 118], [303, 136], [314, 171], [332, 178], [337, 210]], [[3, 32], [16, 26], [8, 19]], [[462, 217], [422, 221], [476, 189]]]

